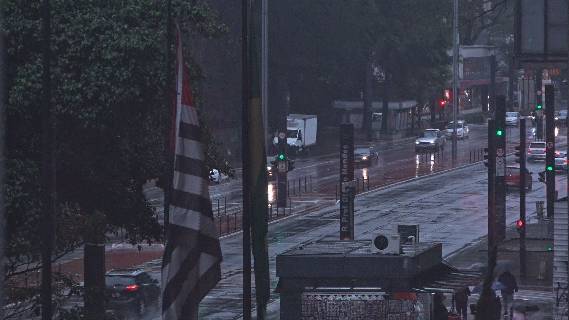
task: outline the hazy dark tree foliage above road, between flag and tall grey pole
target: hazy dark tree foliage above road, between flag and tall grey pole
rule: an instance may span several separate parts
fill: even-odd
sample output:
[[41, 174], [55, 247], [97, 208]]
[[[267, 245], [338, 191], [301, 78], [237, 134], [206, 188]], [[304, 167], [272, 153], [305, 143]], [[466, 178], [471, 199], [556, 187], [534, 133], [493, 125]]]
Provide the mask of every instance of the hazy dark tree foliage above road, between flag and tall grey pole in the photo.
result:
[[[390, 99], [426, 101], [450, 75], [450, 8], [447, 0], [273, 3], [271, 79], [288, 75], [291, 112], [323, 114], [333, 100], [361, 99], [365, 61], [372, 59], [374, 99], [389, 76]], [[278, 96], [274, 82], [269, 90]]]

